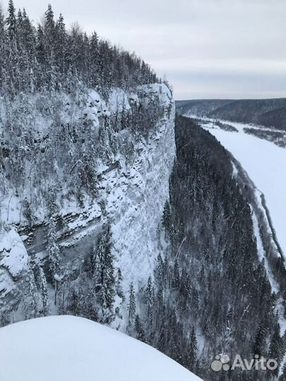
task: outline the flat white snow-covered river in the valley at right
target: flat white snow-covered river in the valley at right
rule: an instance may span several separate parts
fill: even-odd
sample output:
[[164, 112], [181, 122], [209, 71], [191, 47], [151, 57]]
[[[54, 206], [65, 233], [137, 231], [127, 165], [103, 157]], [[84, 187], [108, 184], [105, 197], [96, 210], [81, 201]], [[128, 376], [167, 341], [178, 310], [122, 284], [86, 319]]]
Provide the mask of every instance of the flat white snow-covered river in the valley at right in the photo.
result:
[[[267, 140], [244, 133], [242, 123], [225, 122], [239, 131], [229, 132], [210, 121], [203, 128], [239, 160], [256, 187], [264, 193], [278, 241], [286, 253], [286, 150]], [[214, 128], [215, 127], [215, 128]]]

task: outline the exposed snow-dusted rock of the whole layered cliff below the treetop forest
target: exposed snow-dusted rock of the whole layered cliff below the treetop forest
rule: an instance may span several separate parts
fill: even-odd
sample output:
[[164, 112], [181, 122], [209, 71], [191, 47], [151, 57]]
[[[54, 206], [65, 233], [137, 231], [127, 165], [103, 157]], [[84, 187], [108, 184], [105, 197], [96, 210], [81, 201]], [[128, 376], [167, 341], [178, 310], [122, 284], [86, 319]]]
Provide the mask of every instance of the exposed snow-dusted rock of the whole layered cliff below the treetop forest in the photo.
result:
[[[13, 195], [11, 191], [6, 198], [3, 197], [2, 221], [6, 221], [5, 225], [2, 224], [0, 239], [0, 313], [3, 324], [42, 313], [42, 296], [38, 287], [33, 286], [37, 284], [37, 274], [31, 270], [35, 265], [44, 270], [47, 278], [49, 313], [57, 314], [66, 308], [71, 289], [76, 289], [79, 294], [88, 294], [90, 285], [85, 273], [90, 250], [97, 245], [102, 226], [107, 223], [112, 231], [114, 276], [120, 269], [124, 292], [128, 291], [131, 282], [135, 290], [145, 287], [155, 267], [157, 225], [164, 202], [169, 198], [169, 174], [175, 157], [172, 95], [161, 84], [144, 85], [133, 93], [116, 89], [107, 101], [90, 90], [85, 97], [85, 107], [81, 109], [85, 119], [96, 130], [102, 117], [107, 123], [124, 112], [140, 111], [142, 102], [152, 107], [155, 101], [159, 101], [162, 114], [154, 128], [146, 126], [150, 133], [131, 137], [121, 128], [117, 133], [117, 138], [120, 138], [117, 139], [120, 142], [118, 150], [113, 147], [108, 159], [97, 157], [96, 195], [92, 200], [84, 192], [80, 203], [65, 194], [56, 196], [56, 200], [61, 198], [61, 202], [57, 202], [60, 206], [56, 208], [54, 219], [56, 244], [61, 250], [63, 268], [59, 279], [61, 293], [56, 304], [47, 255], [47, 210], [40, 204], [38, 207], [34, 205], [31, 226], [23, 216], [20, 196]], [[128, 152], [131, 139], [131, 159], [127, 159], [122, 152]], [[11, 205], [8, 205], [9, 198]], [[38, 304], [36, 310], [35, 306], [31, 307], [33, 303], [35, 305], [33, 299]], [[123, 300], [116, 298], [115, 307], [120, 305], [124, 305]], [[124, 315], [124, 307], [121, 312]], [[122, 315], [119, 320], [121, 318]], [[117, 321], [116, 324], [121, 323]]]

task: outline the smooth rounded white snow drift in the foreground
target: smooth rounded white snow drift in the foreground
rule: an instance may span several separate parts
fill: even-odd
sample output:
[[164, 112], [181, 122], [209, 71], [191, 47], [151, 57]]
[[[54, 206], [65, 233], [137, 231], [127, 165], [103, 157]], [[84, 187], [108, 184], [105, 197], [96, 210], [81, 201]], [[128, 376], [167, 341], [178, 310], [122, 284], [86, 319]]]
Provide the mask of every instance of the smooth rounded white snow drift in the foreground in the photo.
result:
[[141, 341], [91, 320], [49, 316], [0, 329], [0, 380], [199, 381]]

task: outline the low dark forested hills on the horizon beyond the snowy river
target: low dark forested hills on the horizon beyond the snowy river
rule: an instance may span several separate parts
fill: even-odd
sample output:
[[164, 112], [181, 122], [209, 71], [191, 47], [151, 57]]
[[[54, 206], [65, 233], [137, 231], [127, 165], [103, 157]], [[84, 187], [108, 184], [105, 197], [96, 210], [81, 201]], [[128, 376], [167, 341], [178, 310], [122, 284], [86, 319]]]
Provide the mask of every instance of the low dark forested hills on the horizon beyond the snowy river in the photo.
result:
[[180, 114], [242, 123], [254, 123], [279, 130], [286, 128], [286, 99], [203, 99], [176, 102]]

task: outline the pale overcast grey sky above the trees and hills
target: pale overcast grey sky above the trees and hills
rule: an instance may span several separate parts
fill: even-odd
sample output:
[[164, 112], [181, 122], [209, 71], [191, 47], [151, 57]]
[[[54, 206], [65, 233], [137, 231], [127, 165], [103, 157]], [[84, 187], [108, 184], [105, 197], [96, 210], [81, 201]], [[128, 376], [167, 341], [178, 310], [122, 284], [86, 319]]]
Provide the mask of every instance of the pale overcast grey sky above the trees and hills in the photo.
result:
[[286, 97], [286, 0], [14, 1], [135, 51], [176, 99]]

